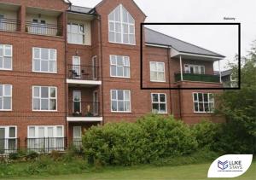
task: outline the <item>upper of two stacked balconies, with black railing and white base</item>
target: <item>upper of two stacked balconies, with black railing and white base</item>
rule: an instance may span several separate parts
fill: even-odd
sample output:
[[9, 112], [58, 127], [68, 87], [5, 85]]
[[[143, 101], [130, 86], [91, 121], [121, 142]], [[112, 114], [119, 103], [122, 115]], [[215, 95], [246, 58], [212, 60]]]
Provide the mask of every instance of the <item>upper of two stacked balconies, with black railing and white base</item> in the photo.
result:
[[67, 84], [101, 85], [98, 69], [99, 67], [93, 66], [68, 65]]

